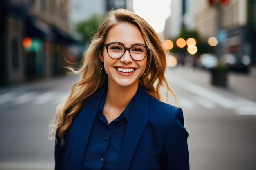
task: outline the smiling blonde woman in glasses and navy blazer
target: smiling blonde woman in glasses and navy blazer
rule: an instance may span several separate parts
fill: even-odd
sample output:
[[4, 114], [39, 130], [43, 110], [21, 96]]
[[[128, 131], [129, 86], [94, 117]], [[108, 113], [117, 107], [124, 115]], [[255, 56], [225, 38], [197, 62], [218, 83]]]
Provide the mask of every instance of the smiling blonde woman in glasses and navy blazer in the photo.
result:
[[55, 170], [188, 170], [182, 109], [160, 102], [161, 87], [174, 95], [165, 69], [152, 27], [126, 9], [110, 11], [56, 108]]

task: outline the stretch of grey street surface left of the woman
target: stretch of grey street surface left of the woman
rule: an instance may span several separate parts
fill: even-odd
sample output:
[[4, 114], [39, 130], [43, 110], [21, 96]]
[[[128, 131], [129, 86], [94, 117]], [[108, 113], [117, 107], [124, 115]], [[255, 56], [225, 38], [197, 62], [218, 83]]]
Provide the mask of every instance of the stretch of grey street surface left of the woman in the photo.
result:
[[54, 169], [48, 125], [76, 79], [53, 77], [0, 90], [1, 170]]

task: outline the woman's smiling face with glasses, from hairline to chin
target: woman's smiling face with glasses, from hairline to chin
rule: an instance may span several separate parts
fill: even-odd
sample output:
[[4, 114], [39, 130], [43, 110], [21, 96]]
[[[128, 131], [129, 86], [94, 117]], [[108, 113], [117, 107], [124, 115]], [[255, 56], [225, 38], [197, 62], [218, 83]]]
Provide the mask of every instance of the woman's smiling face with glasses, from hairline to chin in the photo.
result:
[[[113, 42], [119, 43], [112, 44]], [[103, 49], [100, 59], [108, 74], [109, 84], [129, 86], [131, 92], [136, 92], [139, 77], [145, 72], [147, 62], [148, 47], [145, 46], [141, 32], [134, 24], [120, 22], [108, 31], [105, 43], [107, 46]], [[125, 48], [122, 44], [131, 48]], [[134, 44], [142, 44], [142, 46], [134, 46]]]

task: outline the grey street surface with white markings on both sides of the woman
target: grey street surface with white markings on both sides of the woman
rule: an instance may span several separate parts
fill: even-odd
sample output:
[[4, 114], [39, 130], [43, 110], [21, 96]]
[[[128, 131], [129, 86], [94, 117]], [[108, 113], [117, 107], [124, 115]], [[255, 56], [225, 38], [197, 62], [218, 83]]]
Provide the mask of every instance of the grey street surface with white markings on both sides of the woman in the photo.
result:
[[[255, 170], [256, 77], [231, 73], [229, 86], [217, 88], [208, 71], [177, 66], [166, 78], [184, 112], [191, 170]], [[47, 128], [77, 79], [66, 75], [0, 90], [0, 170], [54, 169]], [[172, 96], [168, 103], [174, 105]]]

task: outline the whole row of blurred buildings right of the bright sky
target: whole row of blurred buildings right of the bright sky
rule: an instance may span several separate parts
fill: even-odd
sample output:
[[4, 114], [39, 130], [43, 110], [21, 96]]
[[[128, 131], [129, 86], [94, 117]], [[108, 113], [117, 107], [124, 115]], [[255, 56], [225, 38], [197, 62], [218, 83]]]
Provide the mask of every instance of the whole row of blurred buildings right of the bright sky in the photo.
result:
[[172, 0], [164, 37], [177, 37], [182, 24], [204, 41], [216, 37], [218, 57], [231, 53], [239, 61], [247, 56], [256, 66], [256, 0]]

